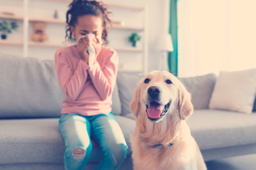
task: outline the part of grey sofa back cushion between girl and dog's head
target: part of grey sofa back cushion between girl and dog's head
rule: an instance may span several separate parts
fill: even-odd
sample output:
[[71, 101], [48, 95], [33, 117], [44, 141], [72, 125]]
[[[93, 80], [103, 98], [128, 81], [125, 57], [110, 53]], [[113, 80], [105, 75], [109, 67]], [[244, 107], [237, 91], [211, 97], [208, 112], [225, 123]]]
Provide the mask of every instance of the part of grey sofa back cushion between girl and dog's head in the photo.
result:
[[134, 90], [137, 87], [141, 78], [144, 78], [145, 74], [142, 72], [118, 72], [117, 73], [117, 85], [119, 90], [119, 96], [122, 103], [122, 115], [132, 114], [130, 110], [130, 103], [134, 96]]

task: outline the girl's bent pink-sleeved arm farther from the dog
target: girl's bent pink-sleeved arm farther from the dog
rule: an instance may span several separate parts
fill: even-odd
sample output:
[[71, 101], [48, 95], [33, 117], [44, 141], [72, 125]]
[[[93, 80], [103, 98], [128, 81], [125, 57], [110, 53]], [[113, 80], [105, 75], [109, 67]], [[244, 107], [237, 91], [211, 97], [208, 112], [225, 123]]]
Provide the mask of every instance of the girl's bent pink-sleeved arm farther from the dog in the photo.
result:
[[55, 53], [55, 67], [60, 86], [70, 101], [75, 101], [82, 91], [87, 79], [89, 65], [80, 60], [76, 70], [72, 70], [65, 52], [57, 50]]

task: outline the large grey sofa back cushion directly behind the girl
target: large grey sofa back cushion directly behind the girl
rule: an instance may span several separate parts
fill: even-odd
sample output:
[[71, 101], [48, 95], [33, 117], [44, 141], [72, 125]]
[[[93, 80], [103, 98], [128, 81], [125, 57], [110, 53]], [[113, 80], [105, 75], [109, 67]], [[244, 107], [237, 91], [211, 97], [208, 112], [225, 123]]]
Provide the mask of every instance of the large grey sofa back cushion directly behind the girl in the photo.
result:
[[[60, 117], [65, 95], [53, 60], [0, 54], [0, 119]], [[117, 85], [114, 114], [121, 114]]]

